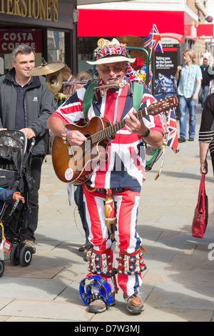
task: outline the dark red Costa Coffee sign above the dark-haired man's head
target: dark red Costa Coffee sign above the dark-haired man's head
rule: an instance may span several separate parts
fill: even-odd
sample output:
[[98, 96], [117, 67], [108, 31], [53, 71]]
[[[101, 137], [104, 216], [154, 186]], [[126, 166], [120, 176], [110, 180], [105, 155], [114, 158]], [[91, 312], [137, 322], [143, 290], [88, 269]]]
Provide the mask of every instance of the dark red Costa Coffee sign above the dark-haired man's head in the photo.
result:
[[0, 53], [11, 54], [19, 44], [27, 44], [36, 52], [42, 51], [41, 30], [0, 30]]

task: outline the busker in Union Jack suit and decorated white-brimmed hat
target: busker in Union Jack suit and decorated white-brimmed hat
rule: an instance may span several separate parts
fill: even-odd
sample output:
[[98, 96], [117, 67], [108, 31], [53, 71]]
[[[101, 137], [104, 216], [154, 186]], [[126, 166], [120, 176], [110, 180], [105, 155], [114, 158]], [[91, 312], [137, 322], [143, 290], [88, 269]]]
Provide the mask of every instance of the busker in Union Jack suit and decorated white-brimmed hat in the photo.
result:
[[[155, 148], [163, 144], [163, 128], [159, 115], [148, 115], [137, 119], [133, 113], [133, 82], [142, 84], [140, 108], [148, 107], [155, 102], [151, 92], [141, 81], [140, 76], [129, 63], [135, 59], [126, 56], [126, 44], [117, 39], [98, 40], [98, 48], [94, 51], [95, 64], [100, 77], [87, 119], [98, 116], [115, 124], [125, 119], [123, 129], [116, 132], [115, 139], [108, 144], [108, 161], [98, 165], [91, 177], [83, 184], [86, 220], [88, 223], [89, 241], [93, 246], [89, 271], [93, 277], [101, 277], [111, 287], [112, 300], [106, 300], [99, 286], [92, 282], [88, 305], [89, 312], [104, 312], [109, 305], [115, 304], [118, 285], [123, 290], [127, 310], [140, 314], [144, 310], [143, 301], [138, 296], [142, 285], [141, 272], [146, 269], [143, 264], [141, 237], [136, 231], [138, 205], [141, 186], [145, 175], [146, 157], [143, 140]], [[58, 137], [66, 132], [66, 140], [71, 146], [86, 142], [84, 134], [78, 130], [70, 131], [65, 124], [77, 124], [84, 118], [82, 112], [86, 87], [78, 89], [59, 109], [52, 114], [48, 127]], [[112, 239], [106, 226], [105, 201], [106, 194], [111, 194], [116, 209], [116, 226], [114, 239], [118, 242], [119, 258], [117, 269], [113, 268]], [[85, 293], [84, 293], [85, 295]], [[86, 296], [86, 295], [85, 295]], [[109, 303], [111, 302], [111, 303]]]

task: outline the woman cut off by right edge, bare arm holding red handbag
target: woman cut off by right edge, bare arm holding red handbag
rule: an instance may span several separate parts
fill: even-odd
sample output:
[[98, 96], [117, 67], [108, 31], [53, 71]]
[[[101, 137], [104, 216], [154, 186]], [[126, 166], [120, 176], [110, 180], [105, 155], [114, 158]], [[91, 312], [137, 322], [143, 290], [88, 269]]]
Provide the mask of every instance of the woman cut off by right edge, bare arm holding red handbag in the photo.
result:
[[203, 108], [199, 130], [199, 149], [200, 173], [208, 173], [207, 156], [210, 149], [214, 174], [214, 94], [208, 96]]

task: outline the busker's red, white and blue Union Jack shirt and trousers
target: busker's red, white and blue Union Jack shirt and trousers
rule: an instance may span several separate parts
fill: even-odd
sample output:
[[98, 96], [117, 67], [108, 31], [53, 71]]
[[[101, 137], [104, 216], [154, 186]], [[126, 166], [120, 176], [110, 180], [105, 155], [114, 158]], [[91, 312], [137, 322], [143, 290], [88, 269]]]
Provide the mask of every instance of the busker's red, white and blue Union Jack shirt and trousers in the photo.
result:
[[[78, 89], [54, 112], [53, 116], [59, 117], [66, 124], [80, 122], [84, 117], [81, 107], [85, 92], [86, 87]], [[153, 102], [155, 102], [154, 97], [148, 89], [144, 88], [141, 109], [148, 107]], [[87, 117], [88, 120], [95, 116], [103, 117], [114, 124], [124, 119], [126, 114], [130, 111], [133, 112], [133, 110], [131, 90], [127, 85], [123, 87], [120, 97], [118, 97], [118, 89], [108, 89], [103, 92], [103, 97], [98, 92], [93, 98], [90, 109], [88, 109]], [[146, 116], [143, 120], [148, 129], [155, 129], [163, 133], [161, 119], [158, 115], [155, 117]], [[136, 232], [136, 225], [145, 166], [143, 139], [138, 134], [130, 133], [123, 128], [116, 133], [116, 138], [108, 145], [108, 161], [96, 167], [91, 178], [86, 182], [87, 188], [83, 186], [88, 239], [93, 245], [91, 267], [95, 274], [108, 278], [112, 290], [114, 290], [114, 286], [111, 282], [111, 275], [115, 271], [112, 268], [112, 240], [105, 222], [106, 195], [94, 191], [94, 189], [123, 189], [123, 192], [113, 194], [117, 219], [114, 237], [121, 251], [117, 271], [118, 285], [128, 296], [137, 295], [138, 287], [142, 284], [141, 238]]]

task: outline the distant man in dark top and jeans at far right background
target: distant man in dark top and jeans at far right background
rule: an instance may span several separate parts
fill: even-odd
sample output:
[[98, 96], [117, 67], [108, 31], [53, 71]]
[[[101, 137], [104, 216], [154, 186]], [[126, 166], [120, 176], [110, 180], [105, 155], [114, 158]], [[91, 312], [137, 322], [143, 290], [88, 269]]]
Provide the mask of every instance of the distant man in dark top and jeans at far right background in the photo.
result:
[[205, 57], [203, 58], [203, 64], [200, 66], [200, 70], [202, 73], [202, 81], [200, 92], [198, 94], [198, 101], [201, 104], [201, 108], [203, 109], [205, 100], [208, 97], [209, 89], [210, 89], [210, 81], [212, 81], [212, 86], [214, 84], [214, 76], [213, 71], [208, 65], [208, 59]]

